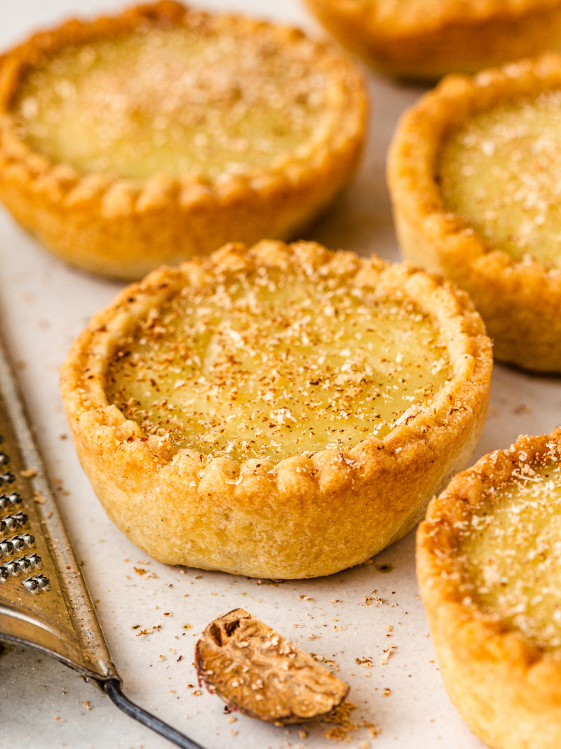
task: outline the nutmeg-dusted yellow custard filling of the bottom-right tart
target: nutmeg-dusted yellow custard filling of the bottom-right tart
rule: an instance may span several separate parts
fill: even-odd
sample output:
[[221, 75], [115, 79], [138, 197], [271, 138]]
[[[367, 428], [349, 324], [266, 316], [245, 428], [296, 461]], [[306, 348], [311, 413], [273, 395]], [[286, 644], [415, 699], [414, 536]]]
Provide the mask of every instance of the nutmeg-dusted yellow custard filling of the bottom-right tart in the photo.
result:
[[[561, 467], [528, 468], [494, 490], [462, 532], [470, 597], [544, 648], [561, 646]], [[496, 502], [496, 504], [495, 504]]]

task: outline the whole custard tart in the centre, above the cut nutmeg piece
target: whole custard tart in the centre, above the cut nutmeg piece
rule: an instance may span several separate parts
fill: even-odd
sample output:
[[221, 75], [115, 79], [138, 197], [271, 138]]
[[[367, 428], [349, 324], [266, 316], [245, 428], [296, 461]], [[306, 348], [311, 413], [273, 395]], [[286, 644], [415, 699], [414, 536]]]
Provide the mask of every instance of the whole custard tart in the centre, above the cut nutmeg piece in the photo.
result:
[[441, 279], [266, 240], [126, 288], [61, 383], [85, 472], [144, 551], [315, 577], [399, 539], [465, 465], [490, 346]]

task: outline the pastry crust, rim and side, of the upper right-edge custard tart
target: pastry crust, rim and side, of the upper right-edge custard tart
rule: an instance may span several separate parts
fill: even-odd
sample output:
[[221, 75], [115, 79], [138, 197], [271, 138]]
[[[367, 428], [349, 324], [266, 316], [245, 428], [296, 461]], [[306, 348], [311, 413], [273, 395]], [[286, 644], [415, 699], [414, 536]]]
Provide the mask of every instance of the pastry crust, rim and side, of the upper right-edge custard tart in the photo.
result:
[[[561, 372], [561, 268], [496, 249], [444, 207], [436, 179], [448, 133], [498, 102], [561, 88], [561, 56], [449, 76], [403, 115], [388, 160], [396, 231], [408, 261], [443, 273], [470, 294], [497, 360]], [[483, 210], [483, 208], [482, 208]]]

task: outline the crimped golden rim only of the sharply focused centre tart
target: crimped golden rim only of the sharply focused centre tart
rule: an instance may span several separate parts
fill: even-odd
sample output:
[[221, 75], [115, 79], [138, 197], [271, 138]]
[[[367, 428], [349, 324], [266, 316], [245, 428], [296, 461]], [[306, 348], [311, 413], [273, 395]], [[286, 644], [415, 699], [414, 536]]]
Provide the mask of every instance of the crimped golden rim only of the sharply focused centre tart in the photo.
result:
[[[325, 273], [337, 273], [357, 282], [375, 282], [382, 290], [407, 294], [423, 312], [444, 331], [444, 345], [453, 374], [435, 396], [431, 407], [405, 412], [383, 439], [367, 437], [351, 449], [322, 449], [309, 457], [285, 458], [213, 457], [194, 449], [172, 446], [167, 440], [147, 434], [137, 422], [126, 419], [114, 405], [108, 404], [103, 377], [108, 357], [118, 339], [119, 330], [128, 330], [144, 310], [167, 299], [186, 283], [197, 283], [213, 267], [221, 271], [251, 270], [254, 267], [306, 269], [322, 267]], [[370, 285], [369, 284], [369, 285]], [[374, 285], [374, 284], [373, 284]], [[281, 494], [289, 482], [313, 482], [319, 491], [337, 490], [346, 485], [357, 488], [372, 481], [375, 473], [388, 465], [392, 470], [407, 470], [415, 452], [436, 450], [438, 434], [444, 430], [462, 431], [465, 421], [481, 408], [482, 388], [491, 369], [491, 343], [479, 314], [468, 294], [438, 276], [415, 270], [406, 264], [390, 265], [380, 258], [358, 258], [350, 252], [331, 252], [311, 242], [290, 246], [264, 240], [251, 248], [232, 243], [209, 258], [194, 258], [180, 267], [162, 267], [142, 282], [123, 289], [108, 307], [95, 315], [86, 330], [75, 340], [61, 371], [61, 389], [67, 416], [79, 440], [87, 444], [107, 440], [123, 445], [127, 460], [143, 466], [144, 475], [165, 467], [174, 459], [193, 461], [199, 484], [218, 470], [236, 483], [240, 496], [256, 474], [274, 475]], [[393, 461], [393, 462], [391, 462]], [[337, 470], [337, 478], [334, 476]], [[197, 487], [193, 488], [197, 491]]]

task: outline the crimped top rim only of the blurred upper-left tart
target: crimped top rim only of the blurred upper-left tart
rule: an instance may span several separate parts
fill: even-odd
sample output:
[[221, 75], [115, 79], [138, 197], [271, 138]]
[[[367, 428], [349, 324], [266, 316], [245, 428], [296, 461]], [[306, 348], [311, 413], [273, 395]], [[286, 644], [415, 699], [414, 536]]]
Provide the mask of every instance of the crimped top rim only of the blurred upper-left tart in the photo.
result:
[[[316, 51], [316, 63], [337, 84], [340, 96], [338, 113], [330, 131], [308, 140], [299, 153], [277, 157], [272, 164], [248, 170], [243, 175], [222, 174], [215, 180], [196, 173], [179, 178], [156, 173], [150, 178], [132, 179], [106, 175], [101, 172], [80, 174], [65, 163], [50, 160], [34, 151], [14, 131], [10, 117], [10, 101], [17, 90], [20, 76], [46, 52], [54, 52], [67, 45], [111, 37], [122, 31], [134, 31], [147, 23], [187, 25], [201, 19], [214, 19], [224, 28], [236, 28], [240, 34], [265, 32], [277, 37], [289, 48], [305, 40]], [[313, 40], [298, 28], [253, 19], [237, 13], [212, 13], [195, 10], [175, 0], [159, 0], [153, 4], [129, 7], [120, 15], [98, 16], [91, 20], [70, 19], [58, 28], [39, 31], [24, 43], [0, 57], [0, 165], [25, 173], [25, 181], [34, 184], [34, 191], [46, 196], [55, 194], [58, 204], [75, 207], [82, 203], [97, 204], [107, 216], [140, 214], [159, 208], [162, 204], [177, 203], [180, 207], [208, 207], [239, 201], [243, 195], [263, 192], [283, 192], [286, 188], [309, 181], [338, 154], [346, 153], [361, 139], [367, 118], [367, 95], [358, 68], [337, 47], [323, 40]], [[297, 149], [298, 151], [298, 149]]]

